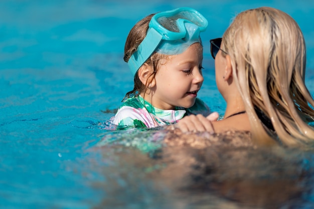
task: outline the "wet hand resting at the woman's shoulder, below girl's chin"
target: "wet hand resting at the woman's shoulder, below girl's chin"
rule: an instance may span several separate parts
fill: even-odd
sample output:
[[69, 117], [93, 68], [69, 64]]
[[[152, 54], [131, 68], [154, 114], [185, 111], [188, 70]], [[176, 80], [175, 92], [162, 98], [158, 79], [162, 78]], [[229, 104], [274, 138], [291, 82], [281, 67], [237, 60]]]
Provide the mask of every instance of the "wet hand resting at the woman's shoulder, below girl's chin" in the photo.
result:
[[182, 132], [208, 131], [210, 133], [214, 133], [214, 127], [211, 121], [217, 120], [217, 118], [217, 112], [210, 114], [207, 118], [201, 114], [189, 115], [182, 118], [177, 124], [175, 124], [175, 126]]

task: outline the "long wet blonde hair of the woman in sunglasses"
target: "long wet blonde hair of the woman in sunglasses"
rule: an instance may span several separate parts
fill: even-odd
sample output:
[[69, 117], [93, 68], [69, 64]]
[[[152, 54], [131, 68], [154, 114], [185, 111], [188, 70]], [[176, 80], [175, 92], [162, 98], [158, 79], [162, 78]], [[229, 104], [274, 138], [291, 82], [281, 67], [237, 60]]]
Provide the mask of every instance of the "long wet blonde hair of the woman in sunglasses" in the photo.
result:
[[[314, 142], [313, 99], [304, 84], [305, 42], [297, 23], [273, 8], [240, 13], [223, 35], [253, 140]], [[267, 125], [266, 122], [269, 124]]]

